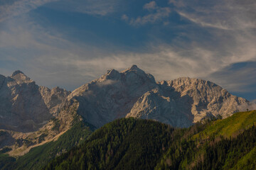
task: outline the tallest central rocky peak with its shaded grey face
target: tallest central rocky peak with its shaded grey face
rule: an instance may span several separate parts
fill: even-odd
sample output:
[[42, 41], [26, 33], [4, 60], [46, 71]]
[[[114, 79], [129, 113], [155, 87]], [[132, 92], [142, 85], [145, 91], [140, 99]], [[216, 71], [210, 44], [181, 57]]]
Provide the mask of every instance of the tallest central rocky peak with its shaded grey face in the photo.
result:
[[68, 100], [78, 101], [78, 114], [99, 128], [125, 117], [137, 99], [156, 86], [153, 76], [134, 65], [123, 72], [109, 70], [100, 79], [73, 91]]

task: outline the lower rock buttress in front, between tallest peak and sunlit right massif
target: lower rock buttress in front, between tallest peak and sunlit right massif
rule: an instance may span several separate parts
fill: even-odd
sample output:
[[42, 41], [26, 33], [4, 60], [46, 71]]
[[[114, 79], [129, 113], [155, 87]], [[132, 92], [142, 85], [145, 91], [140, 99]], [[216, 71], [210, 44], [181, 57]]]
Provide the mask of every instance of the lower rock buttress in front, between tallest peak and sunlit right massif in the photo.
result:
[[[146, 92], [132, 107], [126, 117], [154, 119], [174, 127], [188, 127], [193, 123], [189, 99], [180, 98], [175, 91], [166, 91], [158, 87]], [[186, 105], [181, 103], [186, 101]]]

